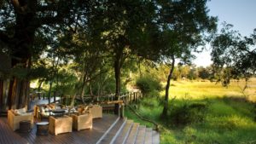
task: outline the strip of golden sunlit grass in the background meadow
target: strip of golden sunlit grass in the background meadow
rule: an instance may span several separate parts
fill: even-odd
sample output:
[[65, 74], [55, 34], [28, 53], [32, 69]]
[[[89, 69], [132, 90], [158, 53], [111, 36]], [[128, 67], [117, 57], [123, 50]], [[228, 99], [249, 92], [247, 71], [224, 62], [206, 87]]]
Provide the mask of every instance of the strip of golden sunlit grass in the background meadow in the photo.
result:
[[[247, 89], [242, 92], [245, 81], [233, 80], [229, 87], [223, 87], [222, 84], [210, 81], [172, 81], [169, 89], [169, 96], [172, 99], [191, 98], [216, 98], [224, 96], [247, 97], [250, 101], [256, 101], [256, 78], [251, 78], [247, 84]], [[165, 95], [163, 90], [160, 95]]]

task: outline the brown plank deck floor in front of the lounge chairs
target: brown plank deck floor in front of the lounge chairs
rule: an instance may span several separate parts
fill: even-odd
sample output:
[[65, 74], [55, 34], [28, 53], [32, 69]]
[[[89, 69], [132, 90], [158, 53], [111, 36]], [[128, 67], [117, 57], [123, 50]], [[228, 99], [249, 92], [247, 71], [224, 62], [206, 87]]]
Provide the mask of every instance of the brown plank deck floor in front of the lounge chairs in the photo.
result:
[[27, 144], [27, 143], [60, 143], [60, 144], [94, 144], [105, 131], [118, 119], [118, 116], [104, 114], [103, 118], [93, 119], [93, 128], [91, 130], [73, 130], [71, 133], [59, 135], [36, 135], [37, 128], [34, 127], [29, 133], [20, 133], [18, 130], [13, 131], [7, 124], [7, 118], [0, 118], [0, 143], [4, 144]]

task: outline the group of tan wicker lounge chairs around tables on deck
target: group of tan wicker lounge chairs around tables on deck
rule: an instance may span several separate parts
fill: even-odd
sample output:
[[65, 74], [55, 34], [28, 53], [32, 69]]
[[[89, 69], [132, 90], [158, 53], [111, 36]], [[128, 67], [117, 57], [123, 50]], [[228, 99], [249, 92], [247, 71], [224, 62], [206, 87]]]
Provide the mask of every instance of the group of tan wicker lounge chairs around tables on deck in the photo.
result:
[[8, 123], [12, 130], [20, 129], [20, 121], [29, 120], [31, 129], [35, 122], [49, 122], [49, 133], [58, 135], [73, 130], [92, 129], [93, 118], [102, 118], [102, 107], [98, 105], [65, 107], [60, 104], [40, 104], [33, 112], [26, 108], [9, 110]]

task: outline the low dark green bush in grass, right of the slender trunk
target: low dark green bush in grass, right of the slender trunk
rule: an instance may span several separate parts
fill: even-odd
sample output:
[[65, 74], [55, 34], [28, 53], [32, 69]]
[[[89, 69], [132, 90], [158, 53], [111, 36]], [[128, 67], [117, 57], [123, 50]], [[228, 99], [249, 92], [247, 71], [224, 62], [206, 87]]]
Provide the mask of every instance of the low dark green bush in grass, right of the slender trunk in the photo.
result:
[[177, 125], [201, 123], [204, 120], [207, 103], [183, 103], [171, 108], [171, 122]]

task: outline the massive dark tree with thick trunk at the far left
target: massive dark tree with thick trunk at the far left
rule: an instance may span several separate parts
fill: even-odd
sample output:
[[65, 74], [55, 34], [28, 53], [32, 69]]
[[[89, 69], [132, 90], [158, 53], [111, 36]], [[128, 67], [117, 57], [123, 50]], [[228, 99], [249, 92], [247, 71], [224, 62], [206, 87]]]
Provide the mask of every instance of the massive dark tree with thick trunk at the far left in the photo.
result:
[[[8, 95], [3, 95], [0, 87], [1, 99], [7, 97], [7, 108], [25, 107], [28, 101], [29, 70], [32, 56], [39, 55], [42, 48], [34, 46], [35, 39], [53, 31], [56, 26], [63, 29], [73, 26], [73, 15], [78, 7], [87, 3], [80, 1], [37, 1], [12, 0], [1, 1], [0, 10], [0, 44], [4, 55], [11, 60], [11, 68], [15, 72], [22, 71], [22, 75], [13, 74], [9, 78], [2, 78], [0, 85], [8, 83]], [[6, 103], [6, 101], [3, 101]], [[2, 104], [1, 104], [2, 105]]]

